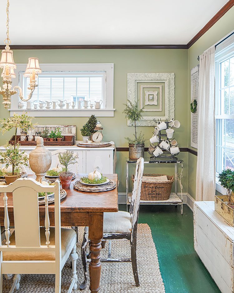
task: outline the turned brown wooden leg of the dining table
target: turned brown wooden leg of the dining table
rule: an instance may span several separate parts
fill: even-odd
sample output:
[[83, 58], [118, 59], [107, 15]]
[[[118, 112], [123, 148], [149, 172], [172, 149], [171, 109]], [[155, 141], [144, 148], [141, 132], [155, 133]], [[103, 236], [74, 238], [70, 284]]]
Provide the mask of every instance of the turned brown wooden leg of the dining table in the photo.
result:
[[89, 213], [89, 239], [90, 239], [90, 291], [96, 293], [100, 290], [101, 262], [100, 251], [103, 237], [103, 213]]

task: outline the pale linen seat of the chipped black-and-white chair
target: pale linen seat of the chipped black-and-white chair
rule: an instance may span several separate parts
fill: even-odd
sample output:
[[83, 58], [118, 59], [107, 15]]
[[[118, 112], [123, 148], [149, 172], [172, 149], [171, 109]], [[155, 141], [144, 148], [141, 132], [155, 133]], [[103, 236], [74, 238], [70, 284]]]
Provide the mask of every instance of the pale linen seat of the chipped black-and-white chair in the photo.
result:
[[104, 213], [103, 233], [131, 233], [131, 215], [126, 211]]

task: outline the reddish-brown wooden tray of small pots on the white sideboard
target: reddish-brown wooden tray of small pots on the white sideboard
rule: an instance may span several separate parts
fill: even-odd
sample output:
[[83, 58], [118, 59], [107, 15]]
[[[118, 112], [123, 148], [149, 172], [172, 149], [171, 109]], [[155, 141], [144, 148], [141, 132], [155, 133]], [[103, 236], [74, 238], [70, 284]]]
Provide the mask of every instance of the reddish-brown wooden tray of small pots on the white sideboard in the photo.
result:
[[[9, 144], [14, 144], [15, 136], [13, 135], [9, 141]], [[16, 142], [18, 142], [21, 146], [36, 146], [37, 142], [35, 142], [35, 136], [33, 136], [32, 141], [28, 141], [28, 135], [26, 136], [25, 141], [20, 141], [20, 135], [16, 136]], [[47, 141], [44, 141], [44, 146], [74, 146], [75, 144], [75, 136], [74, 135], [65, 135], [61, 142], [53, 141], [50, 142], [47, 138]]]

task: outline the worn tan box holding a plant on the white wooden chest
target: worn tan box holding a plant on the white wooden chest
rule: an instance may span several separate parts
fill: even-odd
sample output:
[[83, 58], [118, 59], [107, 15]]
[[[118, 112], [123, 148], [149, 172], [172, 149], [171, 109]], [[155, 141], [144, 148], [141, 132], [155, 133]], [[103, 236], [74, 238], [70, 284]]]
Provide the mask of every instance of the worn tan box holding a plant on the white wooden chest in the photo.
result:
[[[232, 200], [234, 202], [234, 196], [232, 195]], [[234, 209], [228, 206], [225, 201], [228, 201], [227, 195], [216, 195], [215, 196], [215, 211], [224, 218], [224, 220], [234, 227]]]

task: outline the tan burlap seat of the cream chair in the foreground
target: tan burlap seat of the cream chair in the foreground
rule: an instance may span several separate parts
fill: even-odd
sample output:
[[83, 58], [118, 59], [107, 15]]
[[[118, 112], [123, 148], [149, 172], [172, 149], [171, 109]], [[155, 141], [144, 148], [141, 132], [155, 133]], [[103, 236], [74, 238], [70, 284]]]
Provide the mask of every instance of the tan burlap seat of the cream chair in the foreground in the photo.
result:
[[[46, 245], [45, 227], [40, 227], [41, 245]], [[61, 228], [61, 258], [64, 257], [71, 245], [76, 232], [72, 229]], [[50, 245], [55, 245], [55, 228], [50, 228]], [[10, 236], [10, 246], [15, 245], [15, 231]], [[3, 251], [3, 261], [55, 261], [55, 251]]]

